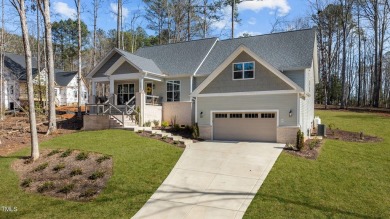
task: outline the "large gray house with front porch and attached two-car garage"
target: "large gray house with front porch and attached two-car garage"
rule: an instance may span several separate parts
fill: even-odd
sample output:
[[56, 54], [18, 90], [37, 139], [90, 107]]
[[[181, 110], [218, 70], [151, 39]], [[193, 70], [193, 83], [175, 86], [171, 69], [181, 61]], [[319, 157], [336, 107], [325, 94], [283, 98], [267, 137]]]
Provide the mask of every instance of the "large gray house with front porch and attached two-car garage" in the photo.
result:
[[95, 97], [104, 84], [110, 106], [91, 102], [96, 109], [86, 124], [120, 120], [105, 115], [112, 108], [129, 114], [139, 107], [140, 124], [197, 123], [203, 139], [294, 142], [299, 129], [307, 137], [313, 126], [316, 29], [144, 47], [135, 54], [113, 49], [87, 78]]

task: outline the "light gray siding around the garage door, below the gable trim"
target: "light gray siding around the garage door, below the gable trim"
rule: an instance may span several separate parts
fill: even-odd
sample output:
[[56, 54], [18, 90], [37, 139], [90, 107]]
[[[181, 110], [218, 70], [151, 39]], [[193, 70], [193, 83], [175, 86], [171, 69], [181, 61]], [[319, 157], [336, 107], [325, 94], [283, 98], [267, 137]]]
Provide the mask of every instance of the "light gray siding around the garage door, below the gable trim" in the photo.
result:
[[[218, 110], [279, 110], [279, 126], [297, 125], [297, 94], [274, 94], [237, 97], [198, 97], [199, 125], [210, 125], [210, 111]], [[292, 117], [289, 111], [292, 110]], [[203, 118], [200, 118], [203, 112]]]

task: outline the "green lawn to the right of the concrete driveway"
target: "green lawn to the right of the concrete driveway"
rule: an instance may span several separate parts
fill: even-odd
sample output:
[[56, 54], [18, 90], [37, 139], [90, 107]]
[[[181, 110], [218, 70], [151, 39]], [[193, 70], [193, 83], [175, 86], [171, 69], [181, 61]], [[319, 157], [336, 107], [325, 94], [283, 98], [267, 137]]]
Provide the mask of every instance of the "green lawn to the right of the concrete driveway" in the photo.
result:
[[326, 140], [317, 160], [282, 153], [245, 218], [390, 218], [390, 117], [316, 111], [324, 124], [382, 137]]

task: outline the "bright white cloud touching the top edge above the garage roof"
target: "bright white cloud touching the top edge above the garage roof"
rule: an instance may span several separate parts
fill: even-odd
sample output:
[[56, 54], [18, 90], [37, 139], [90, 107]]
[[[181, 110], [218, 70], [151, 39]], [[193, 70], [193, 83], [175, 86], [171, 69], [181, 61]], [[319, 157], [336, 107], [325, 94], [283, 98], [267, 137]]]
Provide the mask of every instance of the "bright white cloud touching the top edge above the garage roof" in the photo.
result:
[[263, 9], [276, 10], [278, 15], [283, 16], [290, 12], [291, 7], [288, 5], [287, 0], [254, 0], [243, 1], [237, 5], [239, 11], [255, 11], [259, 12]]

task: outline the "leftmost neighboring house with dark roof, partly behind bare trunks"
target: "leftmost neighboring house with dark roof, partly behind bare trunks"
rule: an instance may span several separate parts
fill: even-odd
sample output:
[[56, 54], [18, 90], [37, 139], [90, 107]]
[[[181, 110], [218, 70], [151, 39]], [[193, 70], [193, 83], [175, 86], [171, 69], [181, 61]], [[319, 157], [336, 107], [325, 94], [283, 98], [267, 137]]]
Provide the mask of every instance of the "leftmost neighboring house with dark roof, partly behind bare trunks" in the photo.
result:
[[[45, 84], [47, 73], [41, 68], [38, 73], [37, 60], [32, 58], [32, 73], [33, 82], [39, 85], [39, 81], [43, 86]], [[6, 110], [20, 108], [27, 104], [27, 77], [26, 77], [26, 62], [23, 55], [13, 53], [4, 54], [4, 106]], [[44, 96], [46, 96], [44, 94]], [[34, 93], [35, 101], [39, 100], [37, 92]], [[44, 97], [42, 99], [45, 101]]]

